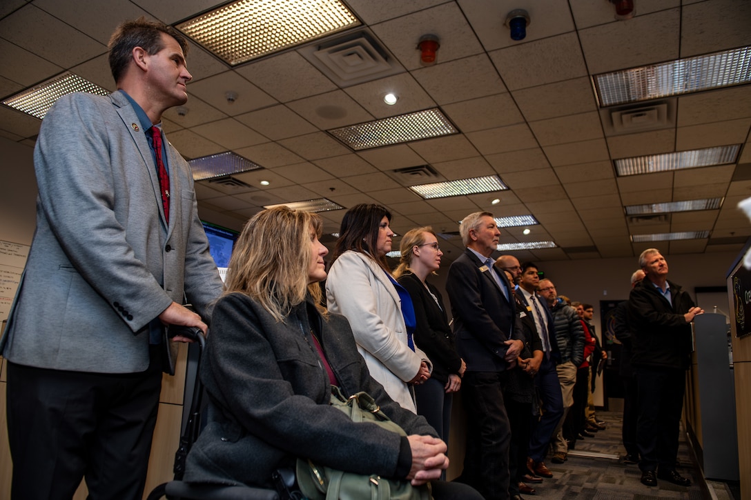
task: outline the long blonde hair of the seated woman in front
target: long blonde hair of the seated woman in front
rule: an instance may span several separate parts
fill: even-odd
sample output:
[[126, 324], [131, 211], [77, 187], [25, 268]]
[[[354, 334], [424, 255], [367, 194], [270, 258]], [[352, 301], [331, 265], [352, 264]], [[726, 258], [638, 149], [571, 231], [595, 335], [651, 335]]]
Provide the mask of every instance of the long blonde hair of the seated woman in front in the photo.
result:
[[321, 287], [308, 277], [311, 229], [321, 237], [323, 221], [312, 212], [278, 206], [253, 215], [235, 243], [225, 294], [248, 295], [280, 322], [311, 294], [325, 314]]

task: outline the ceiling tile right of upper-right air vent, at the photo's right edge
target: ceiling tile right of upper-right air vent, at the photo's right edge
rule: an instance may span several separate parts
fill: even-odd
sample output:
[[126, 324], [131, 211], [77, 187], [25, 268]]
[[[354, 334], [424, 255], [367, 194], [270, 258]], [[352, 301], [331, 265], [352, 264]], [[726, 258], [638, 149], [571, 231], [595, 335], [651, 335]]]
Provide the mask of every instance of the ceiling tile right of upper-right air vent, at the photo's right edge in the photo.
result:
[[678, 98], [679, 127], [749, 116], [751, 116], [751, 85], [682, 95]]

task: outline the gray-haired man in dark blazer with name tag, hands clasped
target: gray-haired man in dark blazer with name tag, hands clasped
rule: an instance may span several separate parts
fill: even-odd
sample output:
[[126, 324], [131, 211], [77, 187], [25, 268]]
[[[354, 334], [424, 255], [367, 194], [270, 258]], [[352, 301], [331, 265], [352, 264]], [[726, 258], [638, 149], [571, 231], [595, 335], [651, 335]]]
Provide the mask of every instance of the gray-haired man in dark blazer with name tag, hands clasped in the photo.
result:
[[462, 401], [467, 441], [460, 480], [487, 499], [508, 498], [511, 429], [503, 404], [505, 370], [523, 348], [511, 285], [493, 267], [500, 231], [490, 212], [467, 215], [460, 226], [466, 250], [448, 270], [446, 291], [457, 350], [466, 362]]

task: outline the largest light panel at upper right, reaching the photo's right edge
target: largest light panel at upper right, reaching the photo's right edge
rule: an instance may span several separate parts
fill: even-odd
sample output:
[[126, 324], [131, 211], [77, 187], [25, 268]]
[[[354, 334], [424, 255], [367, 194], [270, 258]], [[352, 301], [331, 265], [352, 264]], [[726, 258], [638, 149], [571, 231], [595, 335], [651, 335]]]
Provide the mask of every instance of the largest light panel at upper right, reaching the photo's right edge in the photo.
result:
[[593, 76], [600, 106], [751, 83], [751, 47]]

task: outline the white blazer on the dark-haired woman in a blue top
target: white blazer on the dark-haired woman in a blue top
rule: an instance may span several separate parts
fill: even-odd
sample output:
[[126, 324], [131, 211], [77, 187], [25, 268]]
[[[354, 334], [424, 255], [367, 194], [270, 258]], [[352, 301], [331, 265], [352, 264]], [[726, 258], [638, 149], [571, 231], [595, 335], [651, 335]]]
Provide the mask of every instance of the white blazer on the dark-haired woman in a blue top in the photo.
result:
[[407, 345], [407, 328], [397, 289], [368, 255], [348, 251], [334, 261], [326, 279], [330, 312], [348, 319], [370, 375], [391, 399], [415, 412], [412, 390], [406, 382], [418, 374], [427, 355]]

